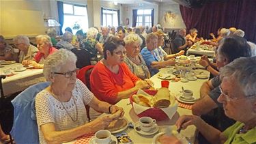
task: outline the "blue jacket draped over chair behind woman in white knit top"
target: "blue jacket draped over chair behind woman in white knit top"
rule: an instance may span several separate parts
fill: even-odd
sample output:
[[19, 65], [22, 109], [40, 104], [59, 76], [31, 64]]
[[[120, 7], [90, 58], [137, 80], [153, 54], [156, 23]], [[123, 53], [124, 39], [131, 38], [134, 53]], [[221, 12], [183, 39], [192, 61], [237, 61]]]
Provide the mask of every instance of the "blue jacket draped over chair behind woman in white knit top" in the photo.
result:
[[10, 133], [16, 143], [39, 143], [38, 124], [35, 117], [35, 96], [49, 85], [49, 82], [32, 85], [12, 100], [14, 124]]

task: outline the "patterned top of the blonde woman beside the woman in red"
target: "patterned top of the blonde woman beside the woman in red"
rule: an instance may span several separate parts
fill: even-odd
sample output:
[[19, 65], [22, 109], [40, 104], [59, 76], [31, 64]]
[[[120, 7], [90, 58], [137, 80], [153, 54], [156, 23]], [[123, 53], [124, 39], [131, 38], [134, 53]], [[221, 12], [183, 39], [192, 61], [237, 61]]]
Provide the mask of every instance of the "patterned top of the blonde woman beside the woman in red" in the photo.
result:
[[134, 63], [131, 59], [128, 57], [124, 58], [124, 62], [126, 65], [130, 68], [130, 71], [132, 71], [133, 74], [138, 76], [141, 79], [150, 78], [150, 70], [148, 70], [146, 63], [144, 59], [142, 58], [141, 54], [139, 54], [139, 59], [141, 60], [141, 63], [137, 65]]

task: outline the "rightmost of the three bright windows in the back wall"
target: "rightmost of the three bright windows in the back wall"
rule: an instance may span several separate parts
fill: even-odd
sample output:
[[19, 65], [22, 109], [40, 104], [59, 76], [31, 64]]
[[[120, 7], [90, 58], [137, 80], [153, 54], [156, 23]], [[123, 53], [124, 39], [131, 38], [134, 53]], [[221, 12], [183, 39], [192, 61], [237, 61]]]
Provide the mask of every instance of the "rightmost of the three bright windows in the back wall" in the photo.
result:
[[152, 10], [138, 10], [136, 27], [140, 25], [151, 27], [151, 13]]

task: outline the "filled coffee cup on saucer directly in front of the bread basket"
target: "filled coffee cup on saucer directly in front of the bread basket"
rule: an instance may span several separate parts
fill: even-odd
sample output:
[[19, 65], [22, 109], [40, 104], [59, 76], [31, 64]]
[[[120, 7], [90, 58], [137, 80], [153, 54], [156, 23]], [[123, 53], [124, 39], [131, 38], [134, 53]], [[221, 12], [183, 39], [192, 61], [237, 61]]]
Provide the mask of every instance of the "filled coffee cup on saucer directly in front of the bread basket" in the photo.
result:
[[139, 126], [144, 132], [150, 131], [154, 124], [156, 124], [156, 119], [152, 119], [151, 117], [141, 117], [139, 119]]

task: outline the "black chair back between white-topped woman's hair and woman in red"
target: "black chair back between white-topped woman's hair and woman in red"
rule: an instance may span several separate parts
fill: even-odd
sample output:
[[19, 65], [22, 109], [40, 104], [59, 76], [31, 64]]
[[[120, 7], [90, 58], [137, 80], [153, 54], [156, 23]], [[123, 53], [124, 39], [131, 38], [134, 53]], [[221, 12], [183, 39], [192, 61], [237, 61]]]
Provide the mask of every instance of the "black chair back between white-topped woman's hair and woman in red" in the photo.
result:
[[76, 68], [83, 68], [91, 65], [91, 56], [88, 51], [83, 48], [72, 48], [72, 53], [76, 55]]

